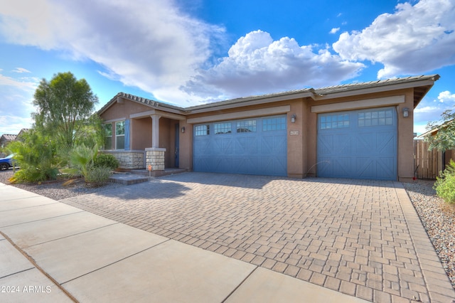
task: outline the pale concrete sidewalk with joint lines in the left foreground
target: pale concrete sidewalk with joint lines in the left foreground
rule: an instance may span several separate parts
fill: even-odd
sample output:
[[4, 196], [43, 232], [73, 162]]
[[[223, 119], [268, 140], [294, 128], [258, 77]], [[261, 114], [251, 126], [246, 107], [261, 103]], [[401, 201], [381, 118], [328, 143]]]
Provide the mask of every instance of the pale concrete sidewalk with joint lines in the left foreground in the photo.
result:
[[365, 302], [0, 184], [0, 302]]

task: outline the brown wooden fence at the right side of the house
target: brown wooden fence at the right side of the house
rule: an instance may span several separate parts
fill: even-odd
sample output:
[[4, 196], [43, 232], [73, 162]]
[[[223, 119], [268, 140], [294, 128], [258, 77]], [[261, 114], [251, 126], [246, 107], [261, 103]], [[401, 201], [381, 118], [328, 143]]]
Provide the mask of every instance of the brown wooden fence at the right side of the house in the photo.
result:
[[428, 151], [428, 142], [414, 140], [414, 176], [417, 179], [436, 179], [444, 169], [444, 158], [441, 151]]

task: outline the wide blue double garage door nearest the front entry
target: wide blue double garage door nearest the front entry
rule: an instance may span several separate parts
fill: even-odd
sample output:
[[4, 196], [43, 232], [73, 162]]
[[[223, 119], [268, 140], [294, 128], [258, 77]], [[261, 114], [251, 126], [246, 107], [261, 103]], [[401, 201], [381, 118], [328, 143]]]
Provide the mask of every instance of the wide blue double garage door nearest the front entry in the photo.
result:
[[193, 170], [287, 176], [287, 116], [196, 124]]

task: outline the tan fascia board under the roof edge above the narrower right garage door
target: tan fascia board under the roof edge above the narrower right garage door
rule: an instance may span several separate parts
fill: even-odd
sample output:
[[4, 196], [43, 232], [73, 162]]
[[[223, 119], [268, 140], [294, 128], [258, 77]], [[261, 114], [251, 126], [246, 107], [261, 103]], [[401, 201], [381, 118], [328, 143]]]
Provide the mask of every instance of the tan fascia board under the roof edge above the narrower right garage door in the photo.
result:
[[392, 90], [404, 90], [420, 86], [434, 85], [434, 80], [417, 80], [410, 83], [399, 83], [392, 85], [382, 85], [376, 87], [360, 88], [358, 90], [346, 90], [343, 92], [333, 92], [325, 95], [318, 95], [316, 90], [316, 100], [327, 100], [339, 97], [349, 97], [354, 95], [373, 94], [375, 92], [388, 92]]

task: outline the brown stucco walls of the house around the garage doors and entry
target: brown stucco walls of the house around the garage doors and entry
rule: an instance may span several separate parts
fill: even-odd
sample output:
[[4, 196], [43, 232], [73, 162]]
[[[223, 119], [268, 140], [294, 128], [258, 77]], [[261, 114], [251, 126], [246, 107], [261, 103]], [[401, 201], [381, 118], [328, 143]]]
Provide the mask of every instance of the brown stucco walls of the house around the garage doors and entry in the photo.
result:
[[[309, 97], [305, 99], [284, 100], [277, 102], [265, 102], [257, 105], [249, 105], [244, 107], [229, 108], [225, 107], [220, 109], [217, 107], [207, 108], [203, 111], [193, 115], [187, 115], [187, 120], [170, 119], [161, 117], [159, 119], [159, 147], [166, 149], [164, 161], [166, 167], [175, 166], [175, 151], [176, 151], [176, 125], [178, 129], [185, 127], [185, 132], [179, 131], [179, 167], [182, 169], [193, 169], [193, 124], [188, 122], [188, 119], [206, 118], [206, 117], [230, 117], [229, 119], [236, 119], [235, 117], [245, 118], [245, 115], [251, 117], [260, 117], [259, 115], [264, 110], [271, 108], [286, 107], [287, 115], [287, 171], [289, 177], [304, 178], [306, 176], [316, 176], [317, 171], [317, 112], [312, 112], [312, 107], [320, 105], [337, 105], [346, 102], [359, 102], [358, 108], [352, 110], [359, 110], [362, 108], [362, 103], [365, 100], [375, 98], [405, 96], [405, 103], [394, 105], [387, 105], [387, 107], [394, 106], [397, 110], [397, 179], [405, 181], [412, 179], [414, 173], [413, 164], [413, 107], [414, 107], [414, 90], [412, 88], [395, 90], [389, 92], [372, 92], [363, 95], [355, 95], [354, 93], [348, 97], [334, 97], [326, 99], [321, 96], [320, 100], [313, 100]], [[374, 105], [380, 107], [381, 105]], [[402, 109], [409, 108], [409, 117], [403, 117]], [[336, 108], [336, 106], [334, 107]], [[148, 112], [151, 107], [140, 105], [137, 102], [124, 100], [124, 102], [114, 103], [103, 114], [102, 118], [105, 120], [115, 121], [117, 119], [130, 119], [129, 115], [137, 114], [138, 112]], [[259, 113], [259, 114], [258, 114]], [[238, 115], [237, 115], [238, 114]], [[183, 115], [183, 114], [181, 114]], [[291, 122], [291, 116], [296, 115], [296, 121]], [[138, 117], [130, 119], [130, 130], [132, 144], [131, 149], [144, 150], [152, 147], [151, 133], [152, 122], [151, 117]], [[196, 122], [194, 122], [196, 123]], [[113, 138], [114, 139], [114, 138]], [[126, 160], [125, 160], [126, 161]], [[130, 164], [128, 164], [130, 165]], [[127, 166], [127, 164], [125, 164]]]

